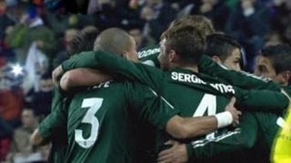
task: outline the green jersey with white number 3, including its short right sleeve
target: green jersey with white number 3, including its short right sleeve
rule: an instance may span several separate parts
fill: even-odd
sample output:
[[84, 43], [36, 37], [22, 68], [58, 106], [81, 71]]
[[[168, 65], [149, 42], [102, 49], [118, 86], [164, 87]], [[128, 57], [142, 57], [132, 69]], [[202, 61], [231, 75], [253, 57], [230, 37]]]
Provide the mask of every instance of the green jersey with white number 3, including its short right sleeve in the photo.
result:
[[131, 82], [105, 82], [77, 92], [67, 110], [65, 162], [135, 162], [134, 124], [158, 129], [176, 110], [155, 91]]

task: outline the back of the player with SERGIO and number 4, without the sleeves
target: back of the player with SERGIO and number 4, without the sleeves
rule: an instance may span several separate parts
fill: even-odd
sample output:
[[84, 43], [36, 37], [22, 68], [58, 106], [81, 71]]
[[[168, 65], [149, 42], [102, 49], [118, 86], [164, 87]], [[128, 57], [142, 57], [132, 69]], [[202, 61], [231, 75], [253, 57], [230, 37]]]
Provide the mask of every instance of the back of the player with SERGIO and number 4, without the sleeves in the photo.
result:
[[[210, 116], [223, 112], [230, 101], [229, 93], [234, 91], [215, 79], [185, 69], [173, 69], [166, 73], [163, 95], [180, 110], [182, 117]], [[196, 139], [214, 140], [227, 132], [227, 129], [220, 129]]]

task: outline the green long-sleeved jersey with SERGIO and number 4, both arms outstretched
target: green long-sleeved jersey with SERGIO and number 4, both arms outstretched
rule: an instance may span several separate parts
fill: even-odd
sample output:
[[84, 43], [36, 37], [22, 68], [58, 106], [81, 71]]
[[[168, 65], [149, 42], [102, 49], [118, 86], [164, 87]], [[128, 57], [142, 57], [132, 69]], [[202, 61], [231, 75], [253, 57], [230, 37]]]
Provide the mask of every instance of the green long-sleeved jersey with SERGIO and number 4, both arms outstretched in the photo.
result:
[[[166, 100], [179, 108], [181, 115], [186, 117], [214, 115], [224, 111], [232, 96], [236, 96], [239, 105], [244, 108], [283, 110], [288, 104], [286, 97], [276, 91], [244, 91], [217, 82], [207, 75], [184, 69], [162, 72], [141, 63], [127, 62], [109, 53], [82, 53], [82, 57], [82, 62], [78, 62], [78, 57], [64, 62], [64, 70], [88, 66], [143, 82], [166, 97]], [[239, 130], [220, 129], [204, 138], [192, 140], [199, 146], [201, 142], [208, 143], [238, 133]]]

